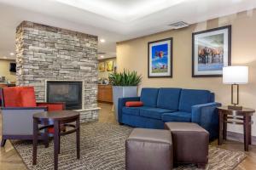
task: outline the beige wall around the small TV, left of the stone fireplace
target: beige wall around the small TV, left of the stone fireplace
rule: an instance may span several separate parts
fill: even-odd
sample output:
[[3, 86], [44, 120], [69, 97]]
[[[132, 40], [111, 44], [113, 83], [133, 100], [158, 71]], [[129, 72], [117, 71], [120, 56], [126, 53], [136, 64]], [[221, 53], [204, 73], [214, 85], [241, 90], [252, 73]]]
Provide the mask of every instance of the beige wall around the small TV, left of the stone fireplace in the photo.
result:
[[9, 71], [10, 63], [15, 63], [15, 60], [0, 59], [0, 77], [5, 77], [5, 80], [15, 82], [16, 74]]

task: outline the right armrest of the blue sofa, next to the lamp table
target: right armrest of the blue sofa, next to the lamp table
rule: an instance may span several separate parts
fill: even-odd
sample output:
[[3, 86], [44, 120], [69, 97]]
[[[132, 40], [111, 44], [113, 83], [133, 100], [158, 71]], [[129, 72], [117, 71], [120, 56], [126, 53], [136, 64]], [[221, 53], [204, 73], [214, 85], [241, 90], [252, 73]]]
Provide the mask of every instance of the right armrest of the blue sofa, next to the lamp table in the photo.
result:
[[212, 102], [192, 106], [192, 120], [210, 133], [210, 139], [218, 137], [218, 109], [220, 103]]

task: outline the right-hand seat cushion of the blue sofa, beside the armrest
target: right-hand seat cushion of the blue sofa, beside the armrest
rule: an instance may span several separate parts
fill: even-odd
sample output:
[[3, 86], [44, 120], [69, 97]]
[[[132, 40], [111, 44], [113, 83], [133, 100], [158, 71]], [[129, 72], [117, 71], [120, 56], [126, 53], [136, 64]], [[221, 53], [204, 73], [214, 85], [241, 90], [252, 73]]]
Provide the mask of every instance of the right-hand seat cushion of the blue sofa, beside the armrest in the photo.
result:
[[172, 113], [164, 113], [162, 115], [163, 122], [191, 122], [191, 113], [177, 111]]

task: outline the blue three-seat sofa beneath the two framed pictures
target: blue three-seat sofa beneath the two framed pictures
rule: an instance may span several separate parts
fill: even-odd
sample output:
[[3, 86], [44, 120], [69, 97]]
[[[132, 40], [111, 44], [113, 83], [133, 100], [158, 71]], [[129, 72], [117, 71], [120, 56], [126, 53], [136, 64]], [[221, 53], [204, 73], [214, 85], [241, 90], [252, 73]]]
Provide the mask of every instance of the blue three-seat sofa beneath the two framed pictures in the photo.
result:
[[[127, 101], [142, 101], [141, 107], [125, 107]], [[143, 88], [141, 97], [120, 98], [118, 120], [132, 127], [164, 128], [165, 122], [195, 122], [218, 137], [219, 103], [208, 90]]]

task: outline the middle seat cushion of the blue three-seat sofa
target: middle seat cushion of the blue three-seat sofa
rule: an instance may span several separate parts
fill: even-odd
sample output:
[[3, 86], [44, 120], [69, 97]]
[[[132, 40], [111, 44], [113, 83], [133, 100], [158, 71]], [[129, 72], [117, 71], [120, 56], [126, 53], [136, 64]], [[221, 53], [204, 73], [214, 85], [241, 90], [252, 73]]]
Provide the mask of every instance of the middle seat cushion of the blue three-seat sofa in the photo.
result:
[[154, 108], [154, 107], [141, 108], [140, 116], [161, 120], [162, 114], [166, 112], [174, 112], [174, 111], [168, 110], [168, 109]]

